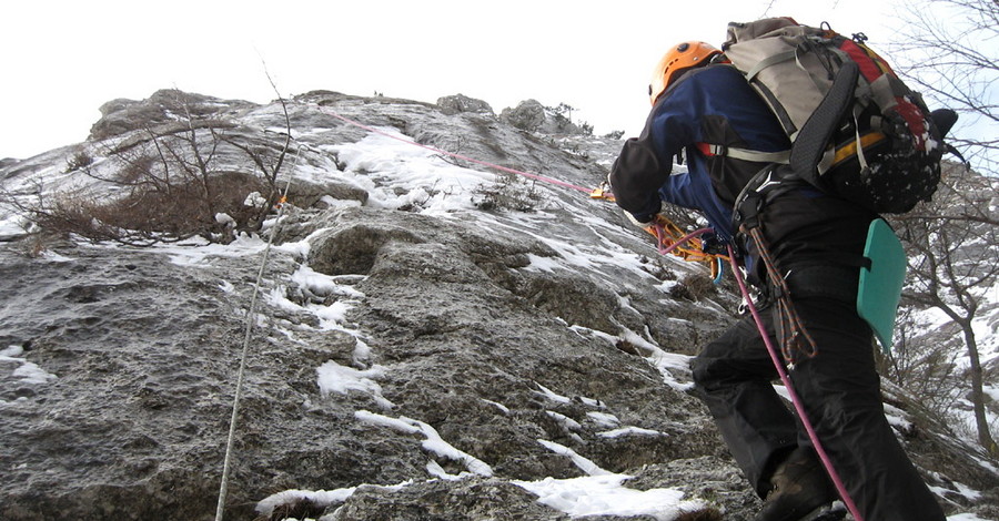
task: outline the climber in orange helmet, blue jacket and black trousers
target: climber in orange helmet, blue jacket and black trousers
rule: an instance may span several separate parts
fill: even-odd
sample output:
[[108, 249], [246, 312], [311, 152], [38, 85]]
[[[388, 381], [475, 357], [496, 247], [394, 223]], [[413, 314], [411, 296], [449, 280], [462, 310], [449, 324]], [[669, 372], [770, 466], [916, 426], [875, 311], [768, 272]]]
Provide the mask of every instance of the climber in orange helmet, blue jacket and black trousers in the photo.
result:
[[[717, 239], [736, 246], [774, 314], [758, 252], [736, 238], [731, 207], [764, 166], [786, 162], [790, 142], [761, 98], [703, 42], [673, 47], [649, 88], [652, 112], [628, 140], [609, 175], [617, 204], [646, 227], [665, 203], [698, 211]], [[715, 146], [712, 146], [715, 145]], [[739, 157], [709, 151], [757, 151]], [[673, 173], [685, 157], [686, 172]], [[679, 162], [679, 161], [677, 161]], [[877, 216], [799, 185], [767, 203], [760, 228], [786, 275], [797, 314], [815, 340], [788, 372], [821, 446], [866, 521], [940, 521], [944, 513], [885, 417], [871, 329], [855, 302], [858, 268], [840, 259], [861, 255]], [[783, 336], [767, 320], [769, 337]], [[710, 341], [693, 361], [695, 392], [706, 403], [729, 451], [764, 499], [759, 521], [838, 519], [838, 499], [808, 436], [771, 386], [777, 370], [760, 330], [747, 316]]]

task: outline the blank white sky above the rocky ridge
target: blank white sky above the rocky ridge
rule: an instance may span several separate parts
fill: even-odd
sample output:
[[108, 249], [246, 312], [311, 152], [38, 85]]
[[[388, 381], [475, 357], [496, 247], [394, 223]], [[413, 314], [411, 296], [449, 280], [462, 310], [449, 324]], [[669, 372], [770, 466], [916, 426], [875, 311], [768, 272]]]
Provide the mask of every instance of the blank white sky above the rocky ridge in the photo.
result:
[[117, 98], [178, 88], [275, 98], [325, 89], [435, 102], [463, 93], [498, 113], [568, 103], [603, 134], [638, 132], [652, 67], [683, 40], [720, 44], [764, 13], [892, 38], [899, 0], [17, 1], [0, 31], [0, 157], [83, 141]]

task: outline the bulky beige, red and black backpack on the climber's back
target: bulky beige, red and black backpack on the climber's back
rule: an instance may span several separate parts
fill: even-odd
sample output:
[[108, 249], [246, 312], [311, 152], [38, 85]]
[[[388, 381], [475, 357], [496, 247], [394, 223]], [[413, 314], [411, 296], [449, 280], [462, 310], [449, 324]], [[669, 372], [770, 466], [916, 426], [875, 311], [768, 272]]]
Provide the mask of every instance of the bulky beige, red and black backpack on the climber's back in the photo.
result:
[[[946, 149], [921, 96], [866, 40], [770, 18], [729, 23], [723, 51], [791, 140], [790, 167], [779, 172], [879, 214], [905, 213], [936, 192]], [[949, 127], [956, 114], [942, 112]]]

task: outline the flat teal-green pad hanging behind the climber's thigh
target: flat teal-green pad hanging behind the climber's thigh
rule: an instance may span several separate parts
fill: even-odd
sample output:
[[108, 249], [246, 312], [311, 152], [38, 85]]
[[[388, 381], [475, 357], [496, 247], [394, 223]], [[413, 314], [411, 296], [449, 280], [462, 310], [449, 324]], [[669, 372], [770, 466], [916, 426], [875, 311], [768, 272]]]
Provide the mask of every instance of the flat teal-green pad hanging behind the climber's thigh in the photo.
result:
[[891, 350], [895, 315], [906, 279], [906, 251], [885, 219], [875, 219], [867, 229], [864, 256], [869, 267], [860, 268], [857, 314], [865, 319], [885, 353]]

